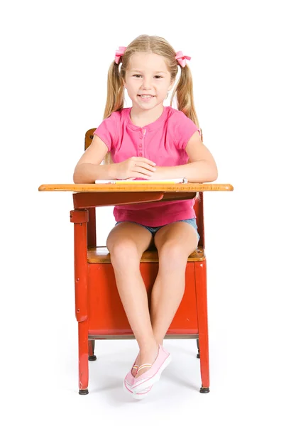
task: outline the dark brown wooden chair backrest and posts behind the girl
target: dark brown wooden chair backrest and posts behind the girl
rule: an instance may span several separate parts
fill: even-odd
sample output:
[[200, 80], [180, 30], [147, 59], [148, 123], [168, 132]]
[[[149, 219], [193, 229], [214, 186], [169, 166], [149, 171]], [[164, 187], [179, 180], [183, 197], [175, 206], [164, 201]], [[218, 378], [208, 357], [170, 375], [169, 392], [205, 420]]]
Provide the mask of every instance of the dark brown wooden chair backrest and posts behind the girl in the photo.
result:
[[[87, 130], [85, 134], [85, 151], [90, 146], [93, 133], [96, 130], [94, 129]], [[202, 130], [201, 131], [201, 139], [203, 142]], [[89, 222], [88, 222], [88, 247], [96, 246], [96, 208], [89, 208]], [[203, 214], [203, 192], [199, 194], [199, 199], [195, 200], [194, 204], [194, 212], [196, 214], [196, 222], [199, 232], [199, 246], [202, 246], [205, 249], [205, 241], [204, 241], [204, 214]]]

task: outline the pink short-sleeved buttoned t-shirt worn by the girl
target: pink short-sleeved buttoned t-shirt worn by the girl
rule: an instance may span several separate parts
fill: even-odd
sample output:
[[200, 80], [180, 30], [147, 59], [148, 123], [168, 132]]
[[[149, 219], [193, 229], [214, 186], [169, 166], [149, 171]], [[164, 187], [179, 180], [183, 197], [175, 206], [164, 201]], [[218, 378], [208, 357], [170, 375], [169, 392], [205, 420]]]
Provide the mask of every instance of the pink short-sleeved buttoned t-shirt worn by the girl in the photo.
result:
[[[94, 131], [108, 147], [114, 163], [140, 156], [152, 160], [157, 166], [187, 164], [189, 157], [185, 148], [194, 132], [199, 131], [191, 119], [182, 111], [164, 107], [157, 120], [139, 127], [131, 121], [130, 111], [131, 108], [114, 111]], [[193, 206], [194, 199], [123, 204], [114, 207], [114, 217], [116, 222], [162, 226], [196, 217]]]

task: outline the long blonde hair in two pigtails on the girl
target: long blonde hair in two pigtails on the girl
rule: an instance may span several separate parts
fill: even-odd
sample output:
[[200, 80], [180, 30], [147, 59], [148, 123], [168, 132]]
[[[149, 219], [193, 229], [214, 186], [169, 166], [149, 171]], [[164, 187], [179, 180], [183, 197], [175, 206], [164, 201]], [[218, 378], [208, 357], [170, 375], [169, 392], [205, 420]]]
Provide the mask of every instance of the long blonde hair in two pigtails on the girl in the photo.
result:
[[[158, 37], [157, 35], [139, 35], [126, 47], [126, 50], [119, 61], [119, 63], [121, 62], [120, 71], [119, 64], [116, 64], [115, 61], [113, 61], [109, 67], [104, 119], [109, 117], [112, 112], [123, 109], [125, 89], [123, 87], [122, 79], [126, 80], [126, 70], [128, 69], [131, 55], [137, 52], [155, 53], [156, 55], [163, 56], [171, 75], [171, 82], [177, 77], [178, 62], [175, 59], [176, 52], [168, 41], [165, 40], [165, 38]], [[181, 67], [180, 79], [177, 82], [170, 99], [171, 107], [175, 96], [177, 99], [177, 109], [184, 112], [184, 114], [191, 119], [194, 124], [196, 124], [201, 132], [194, 107], [192, 74], [187, 64], [185, 67]], [[113, 161], [111, 159], [111, 154], [107, 153], [104, 158], [104, 164], [109, 163], [113, 163]], [[188, 163], [190, 163], [190, 160]]]

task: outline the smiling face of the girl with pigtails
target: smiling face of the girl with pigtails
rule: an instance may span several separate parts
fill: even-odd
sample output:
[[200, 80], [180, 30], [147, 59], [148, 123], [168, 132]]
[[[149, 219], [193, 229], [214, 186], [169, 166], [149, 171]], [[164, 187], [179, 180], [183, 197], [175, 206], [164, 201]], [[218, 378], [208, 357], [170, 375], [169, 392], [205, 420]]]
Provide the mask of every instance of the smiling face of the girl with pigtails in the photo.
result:
[[[155, 53], [134, 53], [131, 56], [124, 87], [136, 111], [163, 109], [163, 101], [175, 83], [170, 81], [163, 56]], [[147, 95], [142, 97], [141, 95]]]

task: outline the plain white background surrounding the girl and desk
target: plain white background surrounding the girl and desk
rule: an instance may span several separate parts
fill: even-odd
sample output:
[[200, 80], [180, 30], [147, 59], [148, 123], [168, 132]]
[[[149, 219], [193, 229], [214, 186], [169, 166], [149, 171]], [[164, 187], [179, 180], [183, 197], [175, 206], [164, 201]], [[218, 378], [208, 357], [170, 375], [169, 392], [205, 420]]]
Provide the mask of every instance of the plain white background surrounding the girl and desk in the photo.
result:
[[[150, 399], [131, 417], [128, 402], [110, 399], [106, 386], [105, 405], [97, 393], [77, 393], [72, 193], [38, 192], [41, 184], [72, 182], [84, 133], [103, 119], [115, 50], [143, 33], [192, 57], [216, 182], [234, 185], [234, 192], [204, 194], [211, 393], [191, 394], [191, 422], [255, 425], [274, 417], [290, 424], [287, 1], [12, 0], [1, 4], [0, 31], [4, 424], [110, 425], [100, 417], [109, 411], [111, 419], [152, 421]], [[98, 211], [97, 244], [114, 226], [112, 210]], [[100, 351], [123, 344], [101, 342]], [[127, 347], [121, 378], [136, 354]], [[96, 374], [89, 386], [97, 381]], [[170, 410], [176, 422], [186, 411], [172, 401], [156, 415]]]

